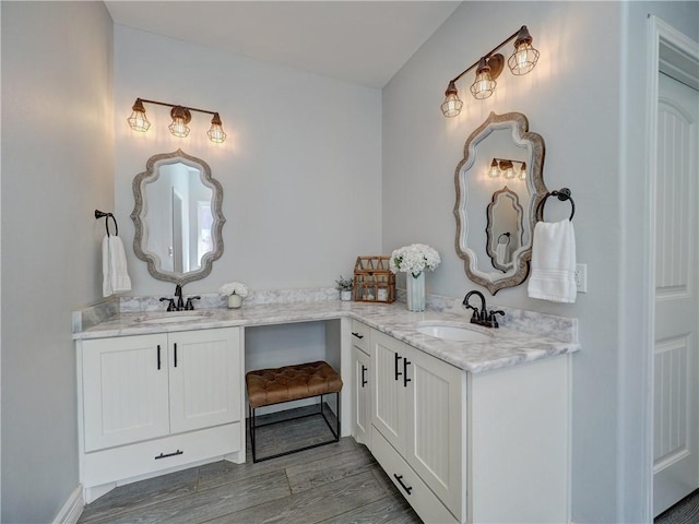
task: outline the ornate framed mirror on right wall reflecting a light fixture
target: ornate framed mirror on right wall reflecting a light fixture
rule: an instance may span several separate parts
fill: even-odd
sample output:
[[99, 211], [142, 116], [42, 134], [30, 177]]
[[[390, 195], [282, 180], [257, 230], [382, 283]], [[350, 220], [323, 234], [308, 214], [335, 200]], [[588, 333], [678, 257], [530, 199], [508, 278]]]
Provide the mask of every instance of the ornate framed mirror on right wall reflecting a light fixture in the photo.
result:
[[529, 274], [536, 206], [547, 192], [544, 155], [544, 139], [520, 112], [491, 112], [464, 144], [454, 171], [457, 254], [493, 295]]

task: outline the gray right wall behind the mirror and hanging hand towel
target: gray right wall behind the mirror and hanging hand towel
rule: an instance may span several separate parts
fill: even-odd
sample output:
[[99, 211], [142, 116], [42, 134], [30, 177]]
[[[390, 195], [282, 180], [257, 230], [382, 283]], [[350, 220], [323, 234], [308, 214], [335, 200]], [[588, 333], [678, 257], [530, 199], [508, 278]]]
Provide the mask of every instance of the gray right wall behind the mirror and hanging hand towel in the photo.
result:
[[[427, 275], [430, 291], [460, 296], [477, 288], [453, 248], [453, 171], [465, 139], [490, 111], [525, 114], [546, 143], [546, 184], [572, 190], [578, 261], [588, 264], [589, 293], [574, 305], [556, 305], [530, 299], [522, 285], [489, 302], [580, 320], [582, 352], [573, 359], [574, 522], [643, 520], [639, 406], [648, 382], [638, 367], [630, 376], [628, 364], [641, 359], [640, 291], [648, 281], [639, 258], [645, 219], [644, 90], [652, 73], [645, 64], [645, 24], [647, 14], [655, 13], [696, 40], [698, 5], [464, 2], [383, 90], [383, 251], [416, 241], [438, 249], [442, 265]], [[469, 73], [458, 85], [461, 116], [445, 119], [439, 105], [449, 79], [522, 24], [542, 52], [536, 69], [516, 78], [506, 68], [486, 100], [469, 93], [474, 78]], [[567, 204], [547, 205], [548, 219], [567, 213]]]

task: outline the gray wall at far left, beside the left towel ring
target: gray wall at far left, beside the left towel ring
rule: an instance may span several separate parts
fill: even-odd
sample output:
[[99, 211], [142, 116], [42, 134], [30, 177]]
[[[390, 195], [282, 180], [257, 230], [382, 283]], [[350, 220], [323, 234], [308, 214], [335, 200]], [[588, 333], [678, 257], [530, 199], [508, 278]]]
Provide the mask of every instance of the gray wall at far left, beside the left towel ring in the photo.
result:
[[78, 487], [71, 311], [98, 298], [114, 206], [112, 24], [102, 2], [2, 9], [2, 522]]

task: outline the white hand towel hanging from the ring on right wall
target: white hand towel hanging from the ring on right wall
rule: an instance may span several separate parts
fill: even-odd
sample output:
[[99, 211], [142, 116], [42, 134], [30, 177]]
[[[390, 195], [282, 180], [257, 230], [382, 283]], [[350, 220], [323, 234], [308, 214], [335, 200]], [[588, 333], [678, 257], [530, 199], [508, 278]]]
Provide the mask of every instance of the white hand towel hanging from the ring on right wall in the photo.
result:
[[540, 222], [534, 227], [529, 296], [552, 302], [574, 302], [576, 234], [572, 222]]

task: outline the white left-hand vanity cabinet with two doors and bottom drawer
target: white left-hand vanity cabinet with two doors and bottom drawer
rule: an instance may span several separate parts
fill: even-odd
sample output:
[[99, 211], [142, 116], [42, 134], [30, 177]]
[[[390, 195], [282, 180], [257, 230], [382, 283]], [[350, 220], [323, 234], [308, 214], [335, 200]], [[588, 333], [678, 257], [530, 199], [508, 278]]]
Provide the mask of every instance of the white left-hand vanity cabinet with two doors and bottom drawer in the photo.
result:
[[232, 453], [245, 461], [239, 327], [85, 340], [78, 349], [87, 501], [97, 486]]

